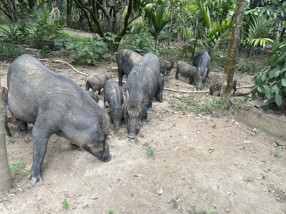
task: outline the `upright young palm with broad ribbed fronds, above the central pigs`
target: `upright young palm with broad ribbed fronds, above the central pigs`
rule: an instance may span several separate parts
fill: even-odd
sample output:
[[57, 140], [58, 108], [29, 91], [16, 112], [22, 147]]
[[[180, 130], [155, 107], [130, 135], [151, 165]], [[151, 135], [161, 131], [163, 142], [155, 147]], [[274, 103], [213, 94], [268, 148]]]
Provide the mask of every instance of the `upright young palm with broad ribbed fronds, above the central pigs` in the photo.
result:
[[155, 40], [155, 47], [158, 48], [157, 39], [161, 31], [164, 27], [170, 23], [170, 19], [167, 17], [165, 13], [166, 6], [164, 4], [160, 4], [156, 10], [154, 11], [154, 7], [156, 4], [147, 4], [144, 8], [145, 13], [147, 14], [152, 26], [149, 29], [149, 32], [152, 34]]

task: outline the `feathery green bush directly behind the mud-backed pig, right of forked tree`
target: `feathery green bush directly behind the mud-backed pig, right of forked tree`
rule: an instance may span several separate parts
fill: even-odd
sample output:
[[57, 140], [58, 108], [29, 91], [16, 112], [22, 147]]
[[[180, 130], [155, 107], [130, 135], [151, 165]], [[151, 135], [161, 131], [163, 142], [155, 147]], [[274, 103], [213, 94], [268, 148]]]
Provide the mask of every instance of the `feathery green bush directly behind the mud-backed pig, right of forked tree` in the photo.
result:
[[158, 55], [157, 49], [154, 48], [154, 40], [149, 38], [148, 27], [142, 23], [138, 28], [138, 33], [131, 34], [125, 38], [125, 49]]

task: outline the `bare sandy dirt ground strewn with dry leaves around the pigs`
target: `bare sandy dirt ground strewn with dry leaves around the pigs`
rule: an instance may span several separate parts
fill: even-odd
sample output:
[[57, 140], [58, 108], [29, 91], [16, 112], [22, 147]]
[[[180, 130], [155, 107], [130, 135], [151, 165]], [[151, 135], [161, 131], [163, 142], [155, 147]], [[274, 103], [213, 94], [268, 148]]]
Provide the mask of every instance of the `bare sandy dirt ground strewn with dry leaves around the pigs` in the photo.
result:
[[[51, 58], [60, 56], [54, 53]], [[84, 84], [85, 76], [68, 65], [45, 64]], [[113, 74], [118, 79], [111, 72], [111, 66], [115, 65], [105, 62], [75, 67], [85, 73]], [[7, 86], [8, 68], [9, 63], [0, 61], [2, 86]], [[209, 74], [212, 80], [221, 75], [214, 71]], [[188, 79], [180, 76], [178, 81], [174, 77], [172, 69], [169, 88], [193, 87]], [[250, 76], [235, 78], [240, 85], [251, 83]], [[268, 185], [286, 191], [286, 152], [274, 156], [275, 147], [271, 145], [273, 141], [284, 145], [286, 142], [263, 131], [253, 133], [255, 127], [235, 122], [233, 115], [200, 117], [197, 113], [176, 110], [170, 101], [180, 96], [164, 91], [164, 102], [153, 102], [148, 121], [141, 123], [138, 141], [126, 137], [126, 123], [119, 131], [110, 128], [108, 144], [112, 159], [107, 163], [89, 152], [72, 149], [69, 141], [52, 135], [43, 161], [43, 183], [31, 185], [27, 173], [20, 172], [12, 182], [13, 190], [18, 191], [10, 201], [2, 196], [0, 213], [107, 214], [110, 209], [115, 214], [193, 213], [193, 205], [195, 211], [206, 210], [206, 213], [286, 213], [285, 198], [276, 191], [265, 191]], [[200, 96], [212, 99], [210, 95]], [[32, 127], [29, 125], [26, 137], [19, 137], [17, 128], [11, 127], [16, 142], [7, 138], [9, 163], [25, 158], [23, 167], [27, 170], [33, 163]], [[147, 145], [156, 149], [154, 156], [145, 154]], [[163, 193], [156, 196], [161, 188]], [[63, 210], [61, 202], [65, 198], [69, 207]], [[172, 200], [178, 198], [178, 204]]]

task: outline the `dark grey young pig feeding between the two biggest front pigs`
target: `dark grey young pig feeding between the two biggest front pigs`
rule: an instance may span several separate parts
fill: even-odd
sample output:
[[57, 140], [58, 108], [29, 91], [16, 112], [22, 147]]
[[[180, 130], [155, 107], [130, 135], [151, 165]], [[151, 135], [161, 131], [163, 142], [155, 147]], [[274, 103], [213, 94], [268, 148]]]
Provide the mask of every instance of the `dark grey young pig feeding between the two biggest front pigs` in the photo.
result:
[[110, 123], [114, 122], [114, 125], [120, 126], [121, 121], [124, 120], [124, 99], [122, 91], [114, 79], [109, 79], [104, 84], [104, 103], [109, 104], [110, 111]]

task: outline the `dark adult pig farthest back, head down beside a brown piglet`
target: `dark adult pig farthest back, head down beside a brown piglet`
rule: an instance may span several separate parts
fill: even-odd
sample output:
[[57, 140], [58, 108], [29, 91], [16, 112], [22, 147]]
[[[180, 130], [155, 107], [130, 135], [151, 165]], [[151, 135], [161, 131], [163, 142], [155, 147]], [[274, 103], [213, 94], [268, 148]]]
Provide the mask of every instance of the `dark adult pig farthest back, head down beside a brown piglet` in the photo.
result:
[[196, 78], [196, 89], [201, 91], [206, 83], [206, 77], [211, 67], [211, 58], [206, 51], [199, 51], [194, 58], [193, 66], [198, 68], [198, 76]]

